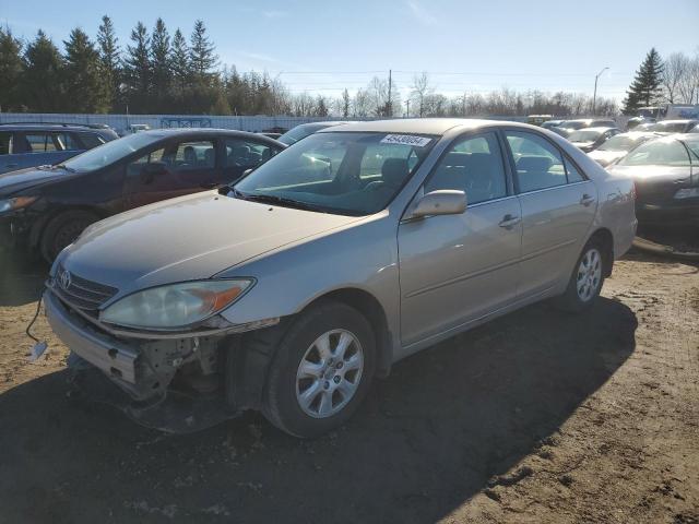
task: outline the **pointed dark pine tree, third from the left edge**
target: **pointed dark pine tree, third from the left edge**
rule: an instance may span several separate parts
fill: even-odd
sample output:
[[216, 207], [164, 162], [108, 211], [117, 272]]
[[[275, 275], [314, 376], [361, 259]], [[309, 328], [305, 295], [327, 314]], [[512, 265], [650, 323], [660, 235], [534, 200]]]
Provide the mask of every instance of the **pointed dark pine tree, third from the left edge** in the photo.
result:
[[107, 112], [109, 86], [102, 74], [99, 52], [87, 34], [76, 27], [66, 46], [66, 99], [73, 112]]

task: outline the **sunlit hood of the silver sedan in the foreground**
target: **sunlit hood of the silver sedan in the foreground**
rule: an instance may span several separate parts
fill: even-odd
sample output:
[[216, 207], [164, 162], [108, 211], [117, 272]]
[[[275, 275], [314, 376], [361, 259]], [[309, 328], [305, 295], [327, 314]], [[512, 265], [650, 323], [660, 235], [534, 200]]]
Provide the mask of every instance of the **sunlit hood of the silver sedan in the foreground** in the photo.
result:
[[[115, 215], [88, 227], [56, 261], [71, 273], [132, 290], [209, 278], [283, 246], [360, 221], [214, 191]], [[240, 275], [254, 276], [254, 275]]]

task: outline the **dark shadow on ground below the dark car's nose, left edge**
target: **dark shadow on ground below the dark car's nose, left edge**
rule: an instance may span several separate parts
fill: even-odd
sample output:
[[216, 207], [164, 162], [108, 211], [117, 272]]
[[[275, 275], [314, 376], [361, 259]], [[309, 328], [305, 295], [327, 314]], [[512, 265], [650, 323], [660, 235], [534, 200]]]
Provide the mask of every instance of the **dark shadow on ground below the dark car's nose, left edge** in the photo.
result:
[[35, 302], [48, 270], [48, 264], [37, 257], [0, 251], [0, 307]]

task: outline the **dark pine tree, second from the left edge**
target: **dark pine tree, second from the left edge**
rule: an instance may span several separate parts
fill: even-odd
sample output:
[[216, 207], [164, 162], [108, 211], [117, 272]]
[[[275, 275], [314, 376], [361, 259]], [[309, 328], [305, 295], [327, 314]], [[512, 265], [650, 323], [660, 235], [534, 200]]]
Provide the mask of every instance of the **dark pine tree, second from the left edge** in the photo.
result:
[[22, 75], [23, 104], [34, 112], [63, 110], [63, 58], [43, 31], [26, 46]]

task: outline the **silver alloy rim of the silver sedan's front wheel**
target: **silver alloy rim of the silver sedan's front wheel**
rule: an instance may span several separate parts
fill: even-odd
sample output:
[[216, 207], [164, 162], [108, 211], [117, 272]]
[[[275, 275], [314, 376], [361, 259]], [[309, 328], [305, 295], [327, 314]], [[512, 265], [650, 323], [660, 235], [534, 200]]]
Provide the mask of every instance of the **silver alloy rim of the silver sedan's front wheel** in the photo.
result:
[[299, 407], [313, 418], [335, 415], [355, 395], [363, 369], [364, 353], [353, 333], [323, 333], [306, 349], [296, 371]]

